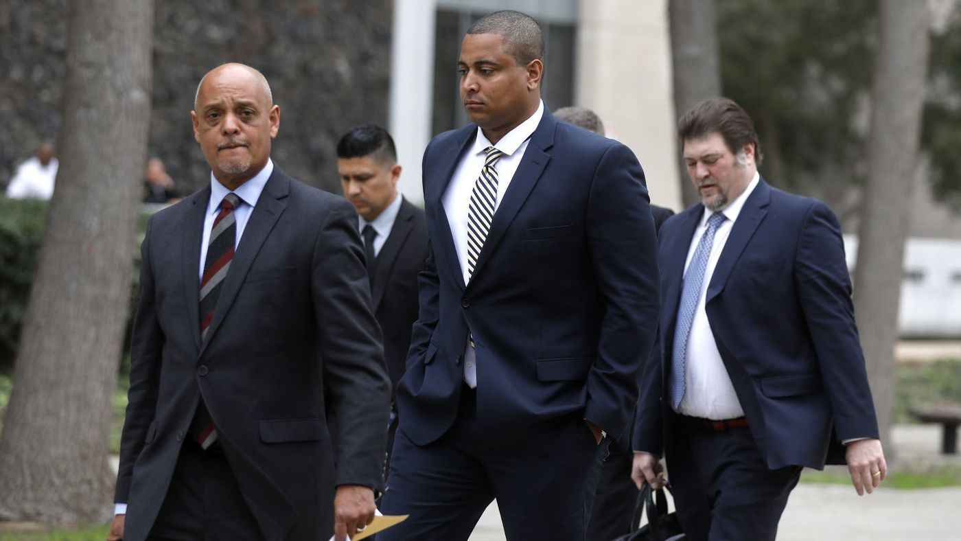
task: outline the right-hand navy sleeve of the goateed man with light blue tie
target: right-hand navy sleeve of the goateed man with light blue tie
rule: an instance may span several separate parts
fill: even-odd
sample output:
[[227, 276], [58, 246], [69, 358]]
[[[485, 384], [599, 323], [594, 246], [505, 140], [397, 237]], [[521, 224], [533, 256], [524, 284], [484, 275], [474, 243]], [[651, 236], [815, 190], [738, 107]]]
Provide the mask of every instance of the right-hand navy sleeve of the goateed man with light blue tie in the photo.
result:
[[799, 239], [795, 280], [839, 440], [877, 437], [875, 407], [854, 324], [844, 241], [834, 213], [808, 210]]

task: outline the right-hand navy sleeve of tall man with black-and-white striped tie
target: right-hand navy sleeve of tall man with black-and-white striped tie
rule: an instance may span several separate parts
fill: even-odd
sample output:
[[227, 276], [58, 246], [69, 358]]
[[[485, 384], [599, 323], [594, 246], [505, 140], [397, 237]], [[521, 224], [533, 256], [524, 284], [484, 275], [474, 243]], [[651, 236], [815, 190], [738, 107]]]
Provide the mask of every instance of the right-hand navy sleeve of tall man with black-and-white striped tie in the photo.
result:
[[623, 434], [637, 402], [659, 307], [657, 245], [644, 171], [612, 144], [598, 164], [587, 208], [590, 258], [604, 297], [597, 357], [587, 377], [584, 418]]

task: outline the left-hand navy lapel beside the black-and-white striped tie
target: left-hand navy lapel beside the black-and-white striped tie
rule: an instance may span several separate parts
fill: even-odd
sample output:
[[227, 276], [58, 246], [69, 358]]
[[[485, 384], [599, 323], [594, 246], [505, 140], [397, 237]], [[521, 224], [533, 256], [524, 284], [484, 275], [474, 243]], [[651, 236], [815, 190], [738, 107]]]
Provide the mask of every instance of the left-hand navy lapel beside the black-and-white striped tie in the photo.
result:
[[[454, 234], [451, 233], [451, 222], [447, 219], [447, 211], [444, 210], [444, 193], [447, 192], [447, 186], [451, 184], [451, 179], [454, 177], [454, 172], [457, 168], [457, 163], [460, 162], [460, 157], [463, 156], [467, 148], [474, 142], [474, 137], [477, 135], [477, 126], [471, 124], [460, 130], [456, 137], [452, 138], [450, 146], [444, 150], [440, 149], [441, 162], [438, 164], [438, 170], [441, 171], [440, 179], [443, 182], [428, 184], [424, 183], [425, 189], [430, 190], [424, 194], [425, 202], [428, 202], [425, 207], [431, 212], [431, 221], [437, 225], [439, 228], [438, 234], [440, 238], [437, 239], [436, 245], [431, 246], [434, 254], [443, 254], [443, 258], [447, 261], [448, 270], [453, 273], [456, 278], [454, 281], [457, 283], [461, 289], [464, 287], [464, 273], [460, 269], [460, 260], [457, 258], [457, 249], [454, 244]], [[425, 181], [429, 179], [425, 178]], [[431, 209], [433, 209], [431, 211]], [[434, 239], [431, 238], [431, 244]], [[435, 261], [437, 266], [440, 266], [440, 261]], [[439, 270], [439, 269], [438, 269]]]

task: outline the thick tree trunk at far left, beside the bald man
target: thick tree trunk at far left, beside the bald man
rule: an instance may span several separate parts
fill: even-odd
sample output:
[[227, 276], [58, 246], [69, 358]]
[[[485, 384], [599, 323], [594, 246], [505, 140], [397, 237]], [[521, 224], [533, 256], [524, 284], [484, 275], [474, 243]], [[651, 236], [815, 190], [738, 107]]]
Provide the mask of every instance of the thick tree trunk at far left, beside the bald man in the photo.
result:
[[61, 154], [0, 437], [0, 519], [111, 514], [111, 398], [150, 115], [152, 0], [72, 2]]

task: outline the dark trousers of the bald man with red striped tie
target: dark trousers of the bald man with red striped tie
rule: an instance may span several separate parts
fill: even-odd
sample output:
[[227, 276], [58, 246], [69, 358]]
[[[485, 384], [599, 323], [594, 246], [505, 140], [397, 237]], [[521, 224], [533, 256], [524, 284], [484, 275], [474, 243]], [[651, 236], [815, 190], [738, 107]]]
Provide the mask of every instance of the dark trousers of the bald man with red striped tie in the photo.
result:
[[187, 439], [148, 539], [260, 540], [257, 520], [218, 446], [204, 451]]

